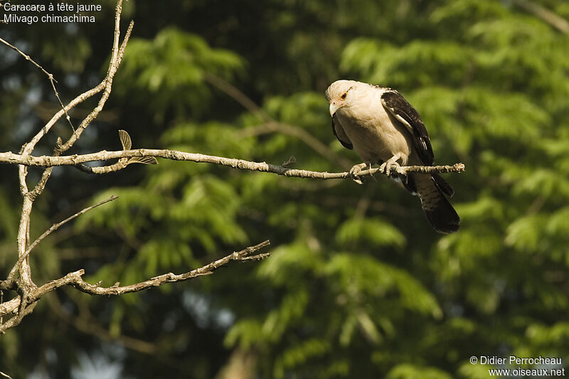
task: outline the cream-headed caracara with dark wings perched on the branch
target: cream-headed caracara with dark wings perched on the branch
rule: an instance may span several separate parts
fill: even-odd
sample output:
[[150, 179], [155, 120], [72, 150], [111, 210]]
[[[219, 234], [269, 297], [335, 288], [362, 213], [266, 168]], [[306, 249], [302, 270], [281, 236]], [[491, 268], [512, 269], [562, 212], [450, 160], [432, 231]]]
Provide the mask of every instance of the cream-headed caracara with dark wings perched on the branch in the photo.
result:
[[337, 80], [326, 90], [332, 132], [363, 163], [350, 170], [353, 178], [372, 164], [400, 181], [420, 198], [427, 222], [438, 233], [454, 233], [460, 218], [448, 198], [454, 189], [439, 174], [392, 172], [395, 166], [432, 166], [435, 154], [419, 112], [398, 91], [355, 80]]

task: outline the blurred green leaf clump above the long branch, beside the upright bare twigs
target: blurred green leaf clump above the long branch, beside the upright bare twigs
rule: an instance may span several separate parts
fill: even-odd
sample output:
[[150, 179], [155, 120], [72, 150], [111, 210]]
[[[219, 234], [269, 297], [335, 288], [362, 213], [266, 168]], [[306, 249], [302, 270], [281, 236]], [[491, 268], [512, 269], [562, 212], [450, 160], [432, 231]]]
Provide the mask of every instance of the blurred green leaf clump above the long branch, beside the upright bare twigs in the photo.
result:
[[166, 111], [184, 117], [205, 110], [211, 97], [204, 85], [206, 73], [230, 78], [242, 68], [235, 53], [213, 49], [200, 36], [171, 27], [153, 41], [132, 38], [116, 87], [122, 96], [134, 93], [134, 102], [152, 96], [148, 105], [162, 121]]

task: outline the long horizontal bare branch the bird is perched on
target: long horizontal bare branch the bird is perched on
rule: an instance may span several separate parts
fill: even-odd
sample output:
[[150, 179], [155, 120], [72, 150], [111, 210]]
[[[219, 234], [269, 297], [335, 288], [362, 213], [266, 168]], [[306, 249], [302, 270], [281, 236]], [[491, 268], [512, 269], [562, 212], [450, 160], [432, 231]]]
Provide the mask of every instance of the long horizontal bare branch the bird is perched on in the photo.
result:
[[[223, 156], [213, 156], [206, 154], [186, 153], [176, 150], [158, 149], [134, 149], [122, 151], [99, 151], [97, 153], [72, 155], [72, 156], [23, 156], [12, 152], [0, 153], [0, 163], [21, 164], [25, 166], [76, 166], [90, 161], [106, 161], [108, 159], [121, 159], [132, 157], [154, 156], [156, 158], [171, 159], [174, 161], [193, 161], [198, 163], [220, 164], [230, 166], [234, 169], [272, 172], [273, 174], [284, 176], [295, 176], [298, 178], [318, 178], [318, 179], [344, 179], [351, 178], [349, 172], [329, 173], [319, 171], [307, 171], [299, 169], [289, 169], [284, 166], [276, 166], [265, 162], [245, 161], [243, 159], [225, 158]], [[453, 166], [391, 166], [391, 171], [406, 175], [408, 172], [419, 172], [422, 174], [449, 173], [464, 171], [464, 164], [454, 164]], [[363, 170], [358, 176], [369, 176], [376, 174], [378, 169]]]

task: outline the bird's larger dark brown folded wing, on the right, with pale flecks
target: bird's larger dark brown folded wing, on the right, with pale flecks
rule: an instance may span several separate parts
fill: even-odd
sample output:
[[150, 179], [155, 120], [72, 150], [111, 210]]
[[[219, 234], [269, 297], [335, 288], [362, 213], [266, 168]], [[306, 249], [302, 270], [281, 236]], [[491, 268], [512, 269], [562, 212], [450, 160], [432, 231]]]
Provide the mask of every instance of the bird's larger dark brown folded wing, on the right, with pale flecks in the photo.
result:
[[425, 124], [422, 123], [419, 112], [417, 112], [399, 92], [391, 89], [383, 92], [381, 95], [381, 103], [393, 117], [398, 119], [409, 129], [422, 163], [427, 166], [432, 166], [435, 161], [435, 154], [432, 152], [429, 134], [427, 134], [427, 129], [425, 128]]

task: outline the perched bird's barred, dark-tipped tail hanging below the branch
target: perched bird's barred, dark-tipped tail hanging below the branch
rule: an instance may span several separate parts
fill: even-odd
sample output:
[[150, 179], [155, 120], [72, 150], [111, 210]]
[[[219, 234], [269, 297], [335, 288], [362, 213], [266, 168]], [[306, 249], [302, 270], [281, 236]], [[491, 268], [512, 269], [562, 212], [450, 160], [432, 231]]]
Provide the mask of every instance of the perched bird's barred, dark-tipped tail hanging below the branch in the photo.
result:
[[447, 199], [454, 192], [450, 184], [437, 174], [416, 174], [415, 186], [422, 210], [432, 228], [438, 233], [454, 233], [459, 230], [460, 218]]

